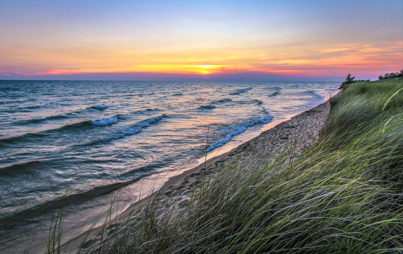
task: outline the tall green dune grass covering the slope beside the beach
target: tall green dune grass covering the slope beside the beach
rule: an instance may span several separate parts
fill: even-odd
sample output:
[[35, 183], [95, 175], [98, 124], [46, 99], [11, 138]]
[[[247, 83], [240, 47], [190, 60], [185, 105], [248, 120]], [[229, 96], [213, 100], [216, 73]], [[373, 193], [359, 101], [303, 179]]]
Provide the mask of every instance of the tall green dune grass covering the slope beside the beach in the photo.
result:
[[402, 88], [403, 78], [348, 85], [304, 154], [290, 146], [260, 165], [231, 161], [187, 207], [162, 211], [156, 198], [81, 252], [403, 252]]

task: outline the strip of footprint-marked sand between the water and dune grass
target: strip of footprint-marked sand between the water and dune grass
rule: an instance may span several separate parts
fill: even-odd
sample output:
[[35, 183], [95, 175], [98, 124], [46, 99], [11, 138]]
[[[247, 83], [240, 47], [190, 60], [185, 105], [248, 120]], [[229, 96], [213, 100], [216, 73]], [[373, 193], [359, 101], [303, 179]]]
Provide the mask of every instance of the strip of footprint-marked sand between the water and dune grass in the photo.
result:
[[[223, 163], [234, 159], [239, 160], [241, 163], [258, 164], [270, 158], [275, 158], [279, 151], [294, 141], [297, 142], [296, 153], [303, 152], [318, 140], [320, 130], [329, 114], [330, 103], [326, 101], [317, 107], [293, 116], [290, 120], [281, 122], [273, 128], [263, 131], [259, 136], [252, 138], [229, 152], [212, 157], [181, 174], [168, 178], [157, 192], [131, 204], [128, 209], [118, 215], [118, 218], [111, 220], [114, 223], [107, 223], [104, 233], [108, 235], [110, 231], [114, 231], [116, 222], [123, 221], [128, 217], [137, 219], [138, 208], [142, 207], [150, 199], [156, 198], [156, 196], [161, 200], [161, 210], [163, 210], [167, 202], [172, 202], [172, 200], [179, 203], [178, 207], [185, 207], [195, 186], [203, 180], [205, 168], [208, 168], [208, 172], [212, 174], [218, 171]], [[136, 209], [138, 211], [133, 212]], [[84, 242], [91, 244], [96, 242], [95, 238], [100, 230], [101, 228], [97, 227], [89, 233], [70, 238], [62, 244], [62, 251], [69, 252], [74, 246], [77, 248], [84, 238]]]

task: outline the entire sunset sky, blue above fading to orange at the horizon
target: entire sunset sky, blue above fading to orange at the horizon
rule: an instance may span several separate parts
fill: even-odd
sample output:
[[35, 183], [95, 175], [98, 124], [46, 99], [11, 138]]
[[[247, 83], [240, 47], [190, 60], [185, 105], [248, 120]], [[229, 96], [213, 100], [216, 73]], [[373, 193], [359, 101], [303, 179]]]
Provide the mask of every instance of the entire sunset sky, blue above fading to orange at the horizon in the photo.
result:
[[0, 79], [343, 81], [403, 68], [401, 0], [0, 6]]

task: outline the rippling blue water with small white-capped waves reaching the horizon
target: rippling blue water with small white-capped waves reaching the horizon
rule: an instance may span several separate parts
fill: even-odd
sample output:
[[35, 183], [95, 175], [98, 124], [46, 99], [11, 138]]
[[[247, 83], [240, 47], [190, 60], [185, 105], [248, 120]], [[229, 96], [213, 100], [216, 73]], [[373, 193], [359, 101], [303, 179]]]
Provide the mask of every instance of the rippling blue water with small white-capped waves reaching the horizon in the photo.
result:
[[191, 166], [206, 153], [208, 128], [214, 152], [322, 103], [338, 85], [0, 81], [0, 222]]

